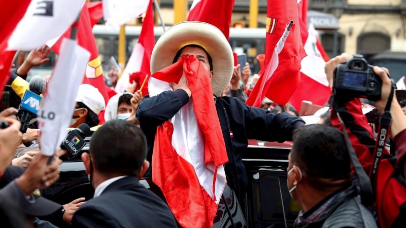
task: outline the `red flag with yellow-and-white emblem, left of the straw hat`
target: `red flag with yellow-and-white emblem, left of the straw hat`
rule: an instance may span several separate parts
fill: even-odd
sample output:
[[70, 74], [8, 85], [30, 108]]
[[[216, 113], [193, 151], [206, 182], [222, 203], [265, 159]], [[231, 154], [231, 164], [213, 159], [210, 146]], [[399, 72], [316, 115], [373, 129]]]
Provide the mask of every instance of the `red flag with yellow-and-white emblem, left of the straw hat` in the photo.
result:
[[[98, 5], [91, 5], [93, 6], [92, 12], [96, 10]], [[94, 8], [96, 7], [96, 8]], [[103, 14], [97, 14], [100, 18], [103, 17]], [[93, 22], [98, 21], [100, 18], [97, 19], [95, 15], [92, 16]], [[76, 36], [76, 40], [78, 44], [88, 50], [90, 52], [90, 61], [86, 66], [85, 77], [83, 78], [82, 84], [89, 84], [97, 88], [101, 95], [105, 98], [105, 102], [109, 101], [109, 95], [106, 90], [106, 84], [103, 77], [103, 69], [101, 68], [101, 61], [98, 55], [98, 50], [96, 46], [96, 41], [94, 39], [94, 34], [92, 31], [92, 19], [89, 14], [88, 5], [85, 4], [82, 8], [82, 12], [80, 13], [80, 20], [79, 23], [76, 24], [78, 26], [78, 32]], [[75, 24], [74, 24], [75, 25]], [[51, 47], [51, 49], [58, 54], [59, 48], [62, 42], [63, 37], [69, 38], [71, 36], [71, 28], [66, 30], [65, 33], [59, 38], [59, 40]], [[101, 111], [98, 115], [100, 124], [103, 124], [104, 121], [104, 111]]]

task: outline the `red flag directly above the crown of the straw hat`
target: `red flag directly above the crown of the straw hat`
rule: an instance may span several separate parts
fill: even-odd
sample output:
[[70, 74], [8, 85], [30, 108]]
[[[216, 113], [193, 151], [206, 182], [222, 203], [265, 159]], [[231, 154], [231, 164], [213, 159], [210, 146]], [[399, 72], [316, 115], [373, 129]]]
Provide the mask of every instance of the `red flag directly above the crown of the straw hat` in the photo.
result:
[[229, 39], [234, 0], [194, 0], [188, 21], [206, 22], [219, 28]]

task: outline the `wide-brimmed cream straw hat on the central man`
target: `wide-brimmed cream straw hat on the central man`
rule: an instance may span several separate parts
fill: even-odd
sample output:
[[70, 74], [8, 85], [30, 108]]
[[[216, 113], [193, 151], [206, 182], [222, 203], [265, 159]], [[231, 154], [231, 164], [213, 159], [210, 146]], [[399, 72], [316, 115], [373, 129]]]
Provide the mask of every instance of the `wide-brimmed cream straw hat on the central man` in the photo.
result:
[[185, 21], [166, 30], [152, 50], [151, 73], [172, 65], [178, 51], [187, 45], [198, 45], [212, 57], [213, 93], [220, 95], [232, 78], [234, 56], [220, 29], [205, 22]]

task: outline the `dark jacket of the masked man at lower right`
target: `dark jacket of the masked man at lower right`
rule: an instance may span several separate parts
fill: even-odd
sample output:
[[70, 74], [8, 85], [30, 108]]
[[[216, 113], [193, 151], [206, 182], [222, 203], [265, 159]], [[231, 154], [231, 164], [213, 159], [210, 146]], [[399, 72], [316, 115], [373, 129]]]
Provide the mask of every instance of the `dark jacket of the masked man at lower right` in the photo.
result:
[[295, 221], [294, 227], [377, 228], [378, 226], [373, 215], [361, 204], [357, 195], [357, 189], [355, 186], [347, 187], [339, 191], [339, 193], [332, 194], [302, 215], [304, 219], [309, 218], [310, 214], [318, 210], [325, 202], [335, 196], [314, 221], [300, 222], [300, 219], [298, 218]]

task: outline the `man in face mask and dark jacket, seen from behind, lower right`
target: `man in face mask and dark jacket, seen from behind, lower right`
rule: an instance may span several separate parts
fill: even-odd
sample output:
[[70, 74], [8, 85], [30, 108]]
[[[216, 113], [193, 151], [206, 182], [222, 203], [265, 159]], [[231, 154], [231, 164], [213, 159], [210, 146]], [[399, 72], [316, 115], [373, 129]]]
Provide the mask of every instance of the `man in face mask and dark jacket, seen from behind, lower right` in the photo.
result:
[[313, 124], [293, 135], [287, 184], [302, 207], [295, 227], [377, 227], [351, 181], [351, 162], [343, 134]]

